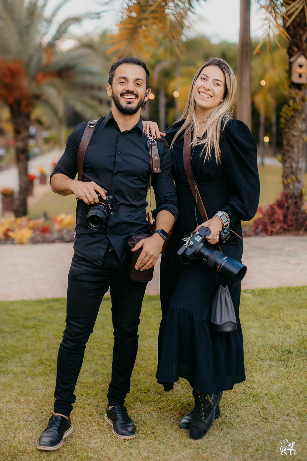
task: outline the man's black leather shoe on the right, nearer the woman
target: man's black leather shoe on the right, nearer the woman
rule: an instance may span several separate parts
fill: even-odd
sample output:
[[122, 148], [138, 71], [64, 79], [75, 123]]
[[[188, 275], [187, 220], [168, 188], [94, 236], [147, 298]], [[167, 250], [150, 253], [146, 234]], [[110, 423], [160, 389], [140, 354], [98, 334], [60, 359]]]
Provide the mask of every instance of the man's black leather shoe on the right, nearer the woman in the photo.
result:
[[124, 405], [115, 404], [109, 409], [107, 406], [104, 419], [113, 428], [113, 434], [119, 438], [136, 437], [136, 429], [133, 420], [129, 417], [127, 408]]

